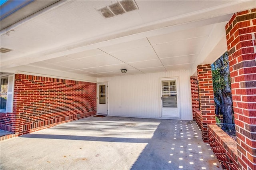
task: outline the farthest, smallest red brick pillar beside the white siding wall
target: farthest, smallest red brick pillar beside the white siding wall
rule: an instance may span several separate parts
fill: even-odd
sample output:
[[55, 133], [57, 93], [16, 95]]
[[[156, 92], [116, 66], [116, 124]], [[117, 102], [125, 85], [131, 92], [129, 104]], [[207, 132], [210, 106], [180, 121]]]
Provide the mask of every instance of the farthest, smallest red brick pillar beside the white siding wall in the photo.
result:
[[190, 88], [191, 88], [191, 98], [192, 98], [193, 120], [195, 120], [195, 111], [199, 110], [198, 83], [197, 83], [196, 76], [190, 77]]

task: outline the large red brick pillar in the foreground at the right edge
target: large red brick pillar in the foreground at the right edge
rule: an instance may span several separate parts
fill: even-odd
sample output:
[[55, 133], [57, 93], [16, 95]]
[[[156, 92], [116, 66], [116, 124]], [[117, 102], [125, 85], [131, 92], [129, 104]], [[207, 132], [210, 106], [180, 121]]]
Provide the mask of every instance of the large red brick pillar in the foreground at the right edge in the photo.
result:
[[256, 170], [256, 9], [235, 13], [226, 38], [239, 168]]

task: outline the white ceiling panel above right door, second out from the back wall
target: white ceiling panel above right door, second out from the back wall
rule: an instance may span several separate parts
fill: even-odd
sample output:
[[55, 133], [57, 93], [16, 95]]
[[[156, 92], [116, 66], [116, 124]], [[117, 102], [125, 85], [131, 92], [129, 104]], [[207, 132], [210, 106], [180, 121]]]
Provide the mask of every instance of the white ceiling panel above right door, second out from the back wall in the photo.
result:
[[170, 57], [161, 59], [164, 66], [166, 65], [178, 65], [178, 64], [186, 64], [186, 63], [194, 63], [197, 55], [185, 55], [178, 57]]

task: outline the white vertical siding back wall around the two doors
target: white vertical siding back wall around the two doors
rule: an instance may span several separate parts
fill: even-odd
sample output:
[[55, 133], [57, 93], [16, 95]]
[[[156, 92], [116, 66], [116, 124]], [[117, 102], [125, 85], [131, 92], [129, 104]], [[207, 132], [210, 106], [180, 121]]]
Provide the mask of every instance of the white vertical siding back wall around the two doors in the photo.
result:
[[102, 77], [97, 82], [108, 82], [109, 115], [160, 119], [160, 78], [168, 77], [179, 77], [181, 119], [192, 120], [190, 70]]

